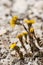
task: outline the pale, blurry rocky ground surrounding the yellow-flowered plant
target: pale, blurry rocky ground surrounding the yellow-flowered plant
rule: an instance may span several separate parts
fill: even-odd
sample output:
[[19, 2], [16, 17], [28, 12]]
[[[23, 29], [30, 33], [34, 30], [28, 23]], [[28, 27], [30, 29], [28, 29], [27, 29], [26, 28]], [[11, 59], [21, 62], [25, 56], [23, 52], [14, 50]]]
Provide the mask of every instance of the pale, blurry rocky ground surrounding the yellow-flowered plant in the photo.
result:
[[[36, 36], [42, 42], [38, 44], [40, 50], [34, 51], [32, 56], [25, 57], [24, 62], [19, 60], [14, 50], [9, 49], [10, 44], [16, 41], [20, 46], [16, 35], [24, 31], [20, 25], [11, 28], [10, 19], [14, 15], [19, 18], [27, 18], [28, 16], [30, 19], [35, 19], [36, 23], [32, 26]], [[22, 21], [20, 20], [20, 22]], [[25, 26], [27, 27], [26, 24]], [[28, 52], [31, 53], [31, 46], [27, 47]], [[22, 51], [23, 54], [26, 53], [23, 49]], [[0, 0], [0, 65], [43, 65], [43, 0]]]

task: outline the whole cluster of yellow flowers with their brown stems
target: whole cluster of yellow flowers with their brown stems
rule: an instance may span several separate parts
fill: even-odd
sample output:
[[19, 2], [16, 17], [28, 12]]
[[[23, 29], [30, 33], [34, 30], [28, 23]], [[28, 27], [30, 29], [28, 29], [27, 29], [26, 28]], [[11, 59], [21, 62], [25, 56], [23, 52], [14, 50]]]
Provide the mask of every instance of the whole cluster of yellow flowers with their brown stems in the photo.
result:
[[[33, 36], [35, 36], [35, 34], [34, 34], [34, 28], [32, 27], [32, 24], [35, 23], [35, 20], [28, 20], [28, 19], [24, 19], [24, 20], [23, 20], [23, 19], [22, 19], [22, 20], [24, 21], [24, 23], [26, 23], [26, 24], [28, 25], [28, 30], [27, 30], [27, 28], [25, 27], [25, 25], [23, 25], [23, 23], [17, 22], [18, 20], [20, 20], [18, 16], [13, 16], [12, 19], [10, 20], [10, 26], [13, 28], [13, 27], [15, 27], [16, 25], [22, 25], [22, 26], [25, 28], [26, 31], [25, 31], [25, 32], [22, 32], [22, 33], [20, 33], [20, 34], [18, 34], [18, 35], [16, 36], [16, 38], [19, 39], [19, 41], [21, 42], [22, 47], [23, 47], [23, 48], [25, 49], [25, 51], [27, 52], [27, 50], [26, 50], [26, 48], [25, 48], [25, 46], [24, 46], [24, 43], [23, 43], [22, 38], [23, 38], [23, 36], [24, 36], [24, 37], [25, 37], [25, 41], [26, 41], [26, 43], [28, 44], [28, 42], [27, 42], [27, 35], [28, 35], [29, 38], [30, 38], [30, 43], [32, 43], [32, 42], [31, 42], [31, 39], [32, 39], [32, 41], [33, 41]], [[18, 52], [19, 56], [20, 56], [20, 59], [24, 59], [22, 52], [20, 52], [20, 48], [17, 46], [17, 42], [16, 42], [16, 43], [15, 43], [15, 42], [12, 43], [12, 44], [10, 45], [10, 49], [16, 50], [16, 51]]]

